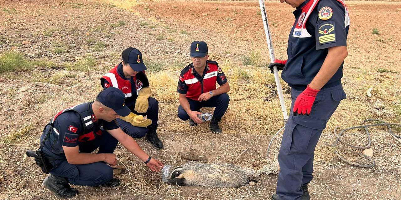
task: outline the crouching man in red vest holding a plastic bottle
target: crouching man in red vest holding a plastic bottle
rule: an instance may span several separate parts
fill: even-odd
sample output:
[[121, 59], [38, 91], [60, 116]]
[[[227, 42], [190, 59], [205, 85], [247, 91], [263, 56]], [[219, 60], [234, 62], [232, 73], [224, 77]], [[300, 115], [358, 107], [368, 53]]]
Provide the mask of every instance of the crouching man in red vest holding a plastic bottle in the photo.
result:
[[[206, 42], [194, 41], [191, 44], [192, 63], [186, 66], [180, 74], [177, 92], [180, 93], [178, 117], [189, 120], [190, 126], [202, 123], [197, 117], [200, 108], [215, 108], [210, 122], [210, 130], [221, 133], [219, 122], [228, 108], [230, 86], [223, 70], [217, 62], [209, 58]], [[216, 89], [216, 82], [220, 85]]]

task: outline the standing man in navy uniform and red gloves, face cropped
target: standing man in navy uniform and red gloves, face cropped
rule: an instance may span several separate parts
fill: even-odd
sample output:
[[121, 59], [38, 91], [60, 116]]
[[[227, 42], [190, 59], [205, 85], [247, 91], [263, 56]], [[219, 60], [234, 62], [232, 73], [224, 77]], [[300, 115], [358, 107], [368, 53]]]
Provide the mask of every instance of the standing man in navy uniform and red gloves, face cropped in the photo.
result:
[[313, 158], [320, 134], [346, 98], [342, 66], [348, 55], [349, 16], [343, 0], [280, 0], [297, 8], [283, 69], [291, 89], [290, 118], [279, 151], [280, 173], [273, 200], [309, 200]]

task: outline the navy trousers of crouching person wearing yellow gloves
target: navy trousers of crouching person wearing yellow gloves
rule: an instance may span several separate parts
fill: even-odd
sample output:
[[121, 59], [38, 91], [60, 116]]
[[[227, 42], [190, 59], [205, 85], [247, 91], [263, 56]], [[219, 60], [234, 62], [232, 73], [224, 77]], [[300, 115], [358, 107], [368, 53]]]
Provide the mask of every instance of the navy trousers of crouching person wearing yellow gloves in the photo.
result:
[[[148, 98], [149, 108], [145, 113], [138, 113], [134, 111], [135, 104], [130, 106], [131, 112], [137, 115], [148, 116], [148, 119], [152, 120], [152, 126], [157, 126], [157, 121], [159, 120], [159, 102], [153, 98]], [[148, 128], [132, 126], [130, 122], [126, 122], [122, 119], [116, 119], [118, 127], [120, 127], [126, 134], [130, 135], [133, 138], [142, 138], [148, 132]]]

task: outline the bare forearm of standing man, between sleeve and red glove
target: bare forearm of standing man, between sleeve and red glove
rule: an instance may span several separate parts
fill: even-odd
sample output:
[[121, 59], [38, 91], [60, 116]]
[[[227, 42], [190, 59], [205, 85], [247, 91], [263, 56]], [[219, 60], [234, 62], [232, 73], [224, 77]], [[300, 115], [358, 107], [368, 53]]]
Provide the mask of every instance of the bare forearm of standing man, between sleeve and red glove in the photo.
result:
[[320, 90], [330, 78], [337, 72], [341, 63], [348, 56], [346, 46], [334, 46], [328, 48], [326, 59], [322, 64], [318, 74], [310, 82], [309, 87], [315, 90]]

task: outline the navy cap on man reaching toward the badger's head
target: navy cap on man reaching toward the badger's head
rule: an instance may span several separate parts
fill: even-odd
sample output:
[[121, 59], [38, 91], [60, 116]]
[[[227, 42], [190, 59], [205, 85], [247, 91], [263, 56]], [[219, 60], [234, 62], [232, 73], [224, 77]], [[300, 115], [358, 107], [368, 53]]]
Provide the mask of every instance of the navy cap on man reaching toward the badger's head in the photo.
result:
[[119, 116], [127, 116], [131, 110], [125, 105], [125, 96], [121, 90], [115, 87], [109, 87], [99, 92], [96, 100], [103, 105], [113, 109]]

